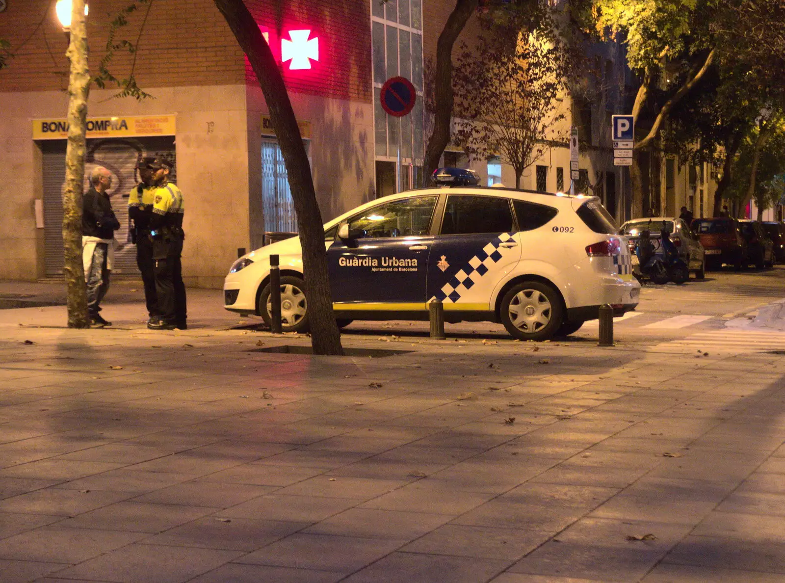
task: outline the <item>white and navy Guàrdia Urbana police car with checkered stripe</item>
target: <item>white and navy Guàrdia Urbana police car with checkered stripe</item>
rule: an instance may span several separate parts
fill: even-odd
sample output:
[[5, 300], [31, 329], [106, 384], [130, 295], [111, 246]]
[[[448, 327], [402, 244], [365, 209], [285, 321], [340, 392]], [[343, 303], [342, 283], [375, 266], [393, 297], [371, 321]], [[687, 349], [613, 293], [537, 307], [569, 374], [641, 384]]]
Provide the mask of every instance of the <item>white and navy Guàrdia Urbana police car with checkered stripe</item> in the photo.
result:
[[[502, 323], [516, 339], [577, 331], [602, 304], [637, 306], [630, 248], [600, 200], [477, 186], [472, 170], [440, 168], [436, 187], [400, 192], [341, 214], [324, 240], [338, 325], [352, 320]], [[279, 255], [284, 332], [308, 329], [298, 237], [238, 259], [225, 308], [269, 324], [270, 255]]]

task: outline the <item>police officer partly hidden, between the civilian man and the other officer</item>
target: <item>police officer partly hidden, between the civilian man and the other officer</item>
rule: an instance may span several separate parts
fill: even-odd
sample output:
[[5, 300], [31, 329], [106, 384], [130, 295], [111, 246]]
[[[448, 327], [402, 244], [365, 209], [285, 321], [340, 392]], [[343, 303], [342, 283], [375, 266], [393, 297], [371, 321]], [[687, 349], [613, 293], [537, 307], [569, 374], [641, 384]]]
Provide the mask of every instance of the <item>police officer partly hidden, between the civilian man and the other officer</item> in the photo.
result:
[[131, 231], [133, 243], [137, 246], [137, 266], [144, 284], [144, 301], [147, 303], [148, 324], [159, 321], [158, 296], [155, 294], [155, 260], [152, 259], [152, 239], [150, 238], [150, 219], [155, 200], [156, 187], [152, 177], [155, 169], [154, 156], [141, 156], [137, 160], [137, 170], [141, 182], [131, 189], [128, 197], [128, 216], [133, 221]]

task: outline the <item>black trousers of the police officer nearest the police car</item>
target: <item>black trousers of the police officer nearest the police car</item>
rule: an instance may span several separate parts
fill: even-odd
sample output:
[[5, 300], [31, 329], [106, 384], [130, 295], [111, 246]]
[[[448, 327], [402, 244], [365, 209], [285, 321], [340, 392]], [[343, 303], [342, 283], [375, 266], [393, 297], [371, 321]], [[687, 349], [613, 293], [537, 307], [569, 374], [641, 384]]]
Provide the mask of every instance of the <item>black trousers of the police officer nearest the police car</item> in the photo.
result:
[[161, 321], [178, 327], [186, 325], [188, 311], [185, 302], [181, 255], [183, 240], [155, 240], [155, 293]]

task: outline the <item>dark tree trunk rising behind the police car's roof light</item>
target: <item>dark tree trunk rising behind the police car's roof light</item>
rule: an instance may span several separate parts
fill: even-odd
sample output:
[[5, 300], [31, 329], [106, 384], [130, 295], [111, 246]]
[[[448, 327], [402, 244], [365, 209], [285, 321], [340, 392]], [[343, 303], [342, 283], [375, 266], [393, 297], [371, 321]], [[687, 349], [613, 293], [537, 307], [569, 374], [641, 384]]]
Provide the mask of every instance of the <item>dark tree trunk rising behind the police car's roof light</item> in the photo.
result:
[[477, 4], [478, 0], [458, 0], [436, 44], [436, 79], [433, 83], [435, 115], [433, 133], [425, 148], [423, 186], [429, 185], [431, 174], [439, 166], [439, 159], [450, 141], [450, 119], [455, 103], [452, 91], [452, 47], [476, 10]]

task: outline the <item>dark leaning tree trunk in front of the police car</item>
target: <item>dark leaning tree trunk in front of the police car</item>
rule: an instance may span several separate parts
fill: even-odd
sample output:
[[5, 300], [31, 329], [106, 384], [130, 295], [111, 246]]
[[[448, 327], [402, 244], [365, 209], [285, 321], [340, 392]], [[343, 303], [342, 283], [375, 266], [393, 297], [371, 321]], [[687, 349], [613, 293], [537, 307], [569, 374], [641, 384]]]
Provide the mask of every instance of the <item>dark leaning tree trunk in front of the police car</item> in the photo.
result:
[[330, 298], [322, 214], [316, 202], [311, 167], [283, 77], [270, 47], [243, 0], [215, 0], [215, 6], [224, 15], [256, 73], [289, 174], [300, 231], [313, 354], [343, 354], [341, 333], [335, 323]]

